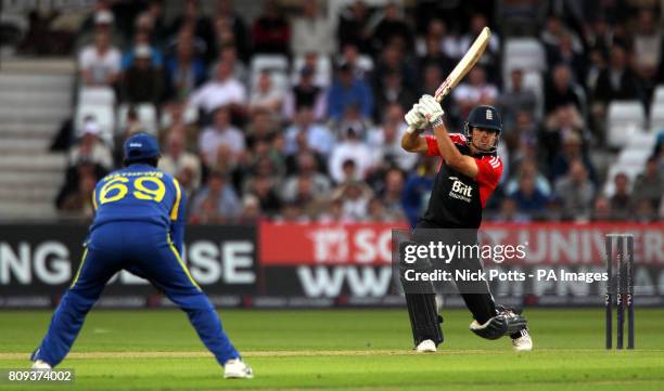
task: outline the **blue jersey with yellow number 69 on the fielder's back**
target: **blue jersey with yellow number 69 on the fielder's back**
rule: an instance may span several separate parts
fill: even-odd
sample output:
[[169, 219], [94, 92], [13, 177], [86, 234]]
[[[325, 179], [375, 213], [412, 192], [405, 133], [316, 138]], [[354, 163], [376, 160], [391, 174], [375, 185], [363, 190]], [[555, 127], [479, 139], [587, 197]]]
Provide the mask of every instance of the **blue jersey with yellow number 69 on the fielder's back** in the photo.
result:
[[90, 232], [107, 223], [151, 223], [164, 229], [182, 253], [184, 194], [170, 174], [150, 165], [111, 172], [94, 187], [97, 214]]

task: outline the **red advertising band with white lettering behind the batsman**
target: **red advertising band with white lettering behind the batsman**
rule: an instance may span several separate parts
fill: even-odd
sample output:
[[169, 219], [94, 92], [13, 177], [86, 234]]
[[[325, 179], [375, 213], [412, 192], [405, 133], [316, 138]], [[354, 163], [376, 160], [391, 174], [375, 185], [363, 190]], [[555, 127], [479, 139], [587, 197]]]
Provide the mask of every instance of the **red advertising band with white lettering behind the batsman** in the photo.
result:
[[[297, 224], [263, 222], [258, 243], [263, 265], [381, 265], [392, 260], [392, 231], [405, 224]], [[484, 224], [481, 244], [523, 245], [522, 264], [603, 264], [604, 235], [634, 235], [635, 259], [664, 264], [664, 224], [534, 223]], [[514, 261], [506, 261], [506, 264]]]

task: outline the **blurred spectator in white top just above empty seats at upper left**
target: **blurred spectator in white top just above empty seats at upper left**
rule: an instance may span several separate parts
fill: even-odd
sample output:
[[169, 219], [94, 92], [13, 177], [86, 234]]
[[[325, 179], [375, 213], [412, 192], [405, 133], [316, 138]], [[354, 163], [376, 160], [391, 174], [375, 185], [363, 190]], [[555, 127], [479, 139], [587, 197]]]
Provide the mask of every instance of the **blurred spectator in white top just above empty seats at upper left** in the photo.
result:
[[122, 54], [111, 45], [111, 36], [106, 29], [94, 32], [94, 43], [85, 47], [78, 56], [80, 77], [88, 86], [113, 87], [120, 71]]

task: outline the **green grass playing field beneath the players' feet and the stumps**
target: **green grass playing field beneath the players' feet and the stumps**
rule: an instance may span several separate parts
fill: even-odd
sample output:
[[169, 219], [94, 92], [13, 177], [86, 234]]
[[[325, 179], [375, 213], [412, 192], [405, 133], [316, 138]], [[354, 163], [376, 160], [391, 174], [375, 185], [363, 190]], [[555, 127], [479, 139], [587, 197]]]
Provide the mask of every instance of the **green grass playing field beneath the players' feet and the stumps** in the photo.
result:
[[[535, 351], [482, 340], [445, 311], [438, 353], [416, 354], [398, 310], [220, 311], [253, 380], [224, 380], [178, 311], [93, 311], [61, 368], [69, 385], [0, 390], [664, 390], [664, 309], [636, 309], [635, 351], [606, 351], [604, 313], [526, 310]], [[51, 313], [0, 311], [0, 368], [28, 367]]]

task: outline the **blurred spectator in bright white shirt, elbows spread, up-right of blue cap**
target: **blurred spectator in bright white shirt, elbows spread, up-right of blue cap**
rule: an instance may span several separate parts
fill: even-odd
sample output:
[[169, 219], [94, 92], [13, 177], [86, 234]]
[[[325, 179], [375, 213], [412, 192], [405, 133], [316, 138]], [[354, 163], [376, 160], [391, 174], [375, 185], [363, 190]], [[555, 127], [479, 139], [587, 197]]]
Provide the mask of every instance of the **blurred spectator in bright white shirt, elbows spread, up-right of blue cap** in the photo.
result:
[[215, 78], [194, 91], [189, 104], [206, 114], [220, 106], [230, 106], [241, 112], [246, 103], [246, 89], [240, 80], [233, 78], [232, 71], [229, 62], [219, 62]]

